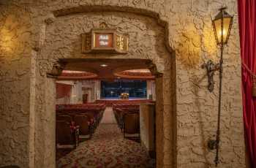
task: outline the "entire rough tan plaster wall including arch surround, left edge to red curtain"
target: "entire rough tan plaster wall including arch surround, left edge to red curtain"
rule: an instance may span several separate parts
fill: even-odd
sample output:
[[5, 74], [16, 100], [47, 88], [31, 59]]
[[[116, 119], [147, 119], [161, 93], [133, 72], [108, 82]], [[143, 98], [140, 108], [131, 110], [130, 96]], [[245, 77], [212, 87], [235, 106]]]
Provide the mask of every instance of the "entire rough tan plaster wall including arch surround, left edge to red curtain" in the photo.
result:
[[[105, 21], [129, 34], [127, 58], [151, 59], [164, 74], [156, 80], [157, 98], [164, 104], [157, 104], [158, 111], [163, 111], [157, 113], [157, 121], [162, 123], [157, 126], [161, 144], [157, 147], [158, 167], [214, 167], [214, 152], [206, 144], [217, 127], [218, 85], [214, 93], [208, 92], [206, 72], [200, 65], [208, 58], [217, 61], [219, 57], [211, 17], [219, 7], [227, 5], [235, 18], [225, 48], [219, 167], [245, 167], [236, 3], [236, 0], [227, 0], [225, 4], [222, 0], [1, 1], [0, 124], [4, 138], [0, 139], [0, 145], [4, 150], [0, 151], [0, 163], [36, 167], [35, 161], [37, 167], [54, 167], [55, 97], [51, 88], [55, 86], [45, 72], [59, 58], [95, 58], [80, 53], [79, 34]], [[81, 13], [70, 15], [75, 12]], [[164, 47], [165, 38], [167, 47], [174, 51], [171, 54]], [[12, 45], [15, 47], [8, 51]], [[36, 77], [29, 76], [32, 72], [36, 72]], [[217, 77], [214, 80], [218, 83]]]

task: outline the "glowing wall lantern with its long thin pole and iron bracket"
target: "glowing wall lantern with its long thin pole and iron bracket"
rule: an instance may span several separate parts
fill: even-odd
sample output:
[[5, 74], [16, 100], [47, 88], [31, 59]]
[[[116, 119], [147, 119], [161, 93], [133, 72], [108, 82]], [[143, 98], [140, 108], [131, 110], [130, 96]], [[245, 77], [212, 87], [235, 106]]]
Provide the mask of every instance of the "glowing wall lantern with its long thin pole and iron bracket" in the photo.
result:
[[217, 136], [216, 140], [209, 140], [208, 148], [211, 150], [216, 149], [215, 165], [219, 164], [219, 134], [220, 134], [220, 113], [221, 113], [221, 101], [222, 101], [222, 72], [223, 72], [223, 49], [224, 45], [227, 45], [228, 38], [230, 36], [230, 30], [233, 23], [233, 15], [229, 15], [222, 7], [219, 9], [219, 13], [212, 20], [212, 26], [214, 28], [214, 35], [217, 45], [220, 47], [220, 59], [219, 64], [214, 64], [213, 61], [209, 60], [207, 64], [203, 64], [202, 68], [206, 68], [208, 75], [208, 90], [214, 91], [214, 72], [219, 70], [219, 106], [218, 106], [218, 125], [217, 125]]

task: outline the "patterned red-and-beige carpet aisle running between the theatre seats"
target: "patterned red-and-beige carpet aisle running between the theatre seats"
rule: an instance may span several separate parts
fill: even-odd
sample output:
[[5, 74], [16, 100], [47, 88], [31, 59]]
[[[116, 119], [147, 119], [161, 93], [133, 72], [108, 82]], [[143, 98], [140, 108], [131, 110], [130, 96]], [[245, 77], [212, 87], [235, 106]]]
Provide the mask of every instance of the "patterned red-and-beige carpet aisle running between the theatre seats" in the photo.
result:
[[154, 167], [154, 160], [149, 158], [140, 143], [124, 139], [113, 120], [112, 109], [107, 108], [93, 140], [80, 143], [57, 164], [58, 167], [72, 168], [149, 168]]

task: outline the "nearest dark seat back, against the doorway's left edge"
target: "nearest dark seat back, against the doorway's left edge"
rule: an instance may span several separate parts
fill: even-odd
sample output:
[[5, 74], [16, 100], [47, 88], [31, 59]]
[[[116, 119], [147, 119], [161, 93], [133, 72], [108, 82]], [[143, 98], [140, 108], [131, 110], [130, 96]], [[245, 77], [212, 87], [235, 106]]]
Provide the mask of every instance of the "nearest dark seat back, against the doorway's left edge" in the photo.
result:
[[67, 121], [56, 121], [56, 143], [60, 145], [75, 144], [75, 137]]

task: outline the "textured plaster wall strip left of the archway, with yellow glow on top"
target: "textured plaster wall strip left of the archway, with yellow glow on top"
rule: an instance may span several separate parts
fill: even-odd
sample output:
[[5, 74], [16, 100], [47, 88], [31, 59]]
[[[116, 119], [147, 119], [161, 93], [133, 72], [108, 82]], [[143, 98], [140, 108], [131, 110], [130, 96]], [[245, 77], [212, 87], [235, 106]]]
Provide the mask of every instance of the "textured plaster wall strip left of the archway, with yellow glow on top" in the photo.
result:
[[0, 4], [0, 166], [29, 167], [33, 123], [29, 12], [19, 5]]

